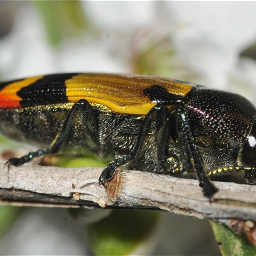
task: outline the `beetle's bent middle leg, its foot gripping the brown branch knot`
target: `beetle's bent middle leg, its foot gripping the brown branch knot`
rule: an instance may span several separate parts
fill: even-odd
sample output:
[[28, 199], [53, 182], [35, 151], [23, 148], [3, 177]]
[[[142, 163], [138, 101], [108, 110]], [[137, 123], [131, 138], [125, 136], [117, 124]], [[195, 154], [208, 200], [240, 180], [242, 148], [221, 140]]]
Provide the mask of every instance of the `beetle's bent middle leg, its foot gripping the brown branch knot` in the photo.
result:
[[140, 158], [145, 137], [152, 123], [152, 118], [155, 119], [156, 123], [155, 139], [157, 148], [157, 160], [160, 165], [164, 166], [168, 158], [169, 116], [170, 114], [168, 108], [166, 107], [166, 104], [156, 104], [156, 106], [148, 112], [147, 116], [144, 118], [140, 126], [134, 154], [118, 157], [114, 161], [109, 163], [108, 166], [101, 173], [99, 182], [104, 185], [106, 180], [112, 179], [115, 169], [117, 167], [128, 164], [132, 160], [137, 160]]

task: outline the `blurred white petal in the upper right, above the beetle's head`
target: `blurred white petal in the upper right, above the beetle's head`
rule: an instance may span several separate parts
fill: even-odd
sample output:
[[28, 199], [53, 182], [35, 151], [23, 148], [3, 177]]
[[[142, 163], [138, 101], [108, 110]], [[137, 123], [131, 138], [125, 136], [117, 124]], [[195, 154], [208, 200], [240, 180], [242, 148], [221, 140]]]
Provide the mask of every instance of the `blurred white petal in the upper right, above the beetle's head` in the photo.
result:
[[239, 53], [256, 39], [256, 2], [165, 2], [176, 24], [174, 44], [207, 85], [223, 88]]

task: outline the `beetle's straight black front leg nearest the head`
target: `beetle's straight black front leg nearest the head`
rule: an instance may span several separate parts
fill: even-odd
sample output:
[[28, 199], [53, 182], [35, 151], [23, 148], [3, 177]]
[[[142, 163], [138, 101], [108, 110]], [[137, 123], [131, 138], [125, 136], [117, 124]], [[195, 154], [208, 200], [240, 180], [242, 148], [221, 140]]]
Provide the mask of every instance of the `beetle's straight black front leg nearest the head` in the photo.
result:
[[177, 109], [177, 118], [179, 141], [185, 141], [186, 143], [185, 147], [188, 148], [189, 158], [195, 168], [196, 176], [199, 180], [199, 186], [203, 188], [204, 196], [212, 197], [218, 191], [218, 188], [212, 184], [204, 171], [200, 156], [197, 152], [195, 140], [190, 129], [188, 114], [184, 107], [179, 107]]

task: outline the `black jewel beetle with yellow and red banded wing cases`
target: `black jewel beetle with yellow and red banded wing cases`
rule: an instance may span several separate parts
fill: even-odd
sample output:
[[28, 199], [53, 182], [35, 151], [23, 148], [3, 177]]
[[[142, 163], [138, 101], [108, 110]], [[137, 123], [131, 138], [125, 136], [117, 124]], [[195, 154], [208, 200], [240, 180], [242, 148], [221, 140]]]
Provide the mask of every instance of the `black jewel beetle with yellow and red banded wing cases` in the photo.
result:
[[112, 157], [116, 167], [195, 172], [204, 196], [209, 175], [245, 171], [256, 181], [256, 108], [226, 91], [160, 76], [72, 73], [0, 83], [0, 132], [40, 149], [8, 163], [53, 153]]

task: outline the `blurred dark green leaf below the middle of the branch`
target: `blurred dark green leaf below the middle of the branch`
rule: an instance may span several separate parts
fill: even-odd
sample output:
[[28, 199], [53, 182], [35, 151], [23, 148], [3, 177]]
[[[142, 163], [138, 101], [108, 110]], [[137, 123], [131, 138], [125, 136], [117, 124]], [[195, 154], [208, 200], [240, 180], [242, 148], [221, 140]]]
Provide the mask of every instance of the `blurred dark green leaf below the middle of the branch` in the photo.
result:
[[153, 241], [149, 237], [154, 237], [159, 216], [157, 211], [113, 210], [109, 217], [88, 225], [92, 251], [95, 255], [129, 255], [147, 238], [150, 242], [145, 242], [145, 248], [153, 250], [157, 236]]

